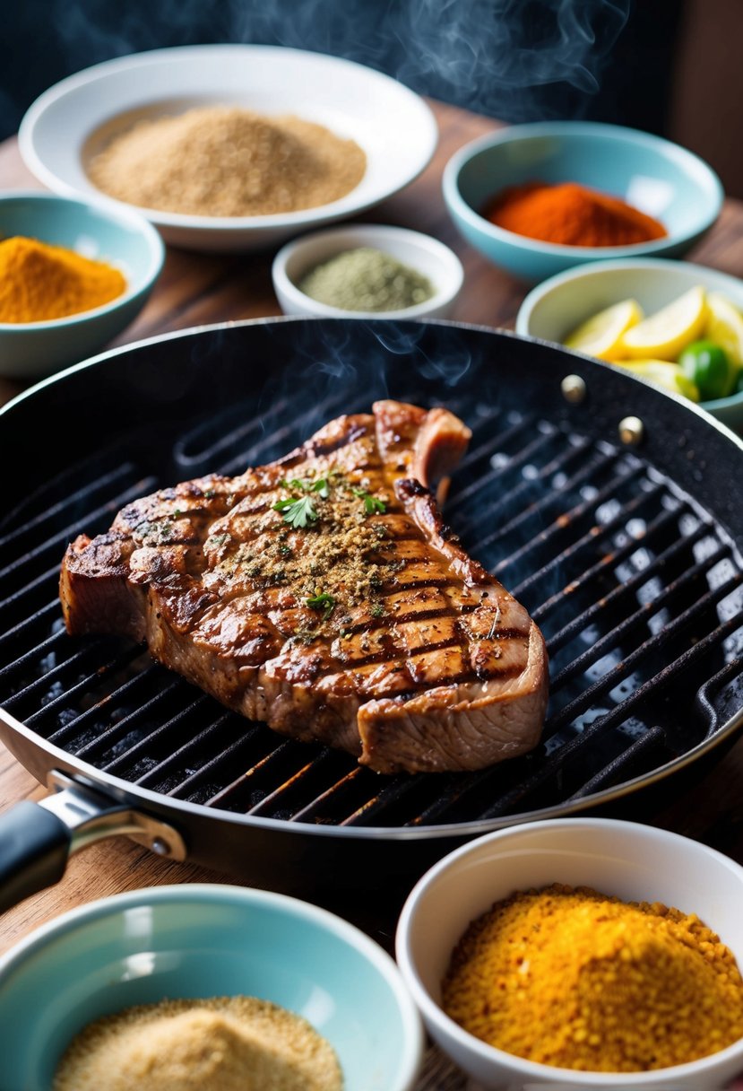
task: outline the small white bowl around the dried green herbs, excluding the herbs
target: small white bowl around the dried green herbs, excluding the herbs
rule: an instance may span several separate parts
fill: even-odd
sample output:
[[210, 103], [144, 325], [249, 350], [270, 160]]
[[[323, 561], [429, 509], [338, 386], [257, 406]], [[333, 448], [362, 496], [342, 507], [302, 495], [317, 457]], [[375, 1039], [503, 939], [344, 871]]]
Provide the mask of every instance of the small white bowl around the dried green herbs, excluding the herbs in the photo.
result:
[[[356, 247], [372, 247], [425, 274], [434, 295], [424, 303], [397, 311], [344, 311], [320, 303], [300, 290], [297, 284], [316, 265]], [[402, 227], [376, 224], [337, 227], [303, 236], [281, 248], [271, 267], [273, 290], [284, 314], [330, 319], [443, 319], [462, 290], [464, 271], [456, 254], [438, 239]]]

